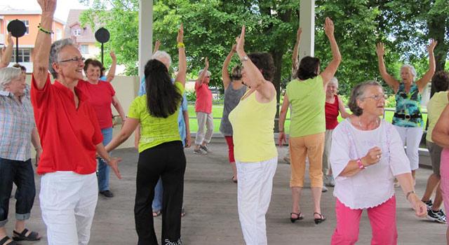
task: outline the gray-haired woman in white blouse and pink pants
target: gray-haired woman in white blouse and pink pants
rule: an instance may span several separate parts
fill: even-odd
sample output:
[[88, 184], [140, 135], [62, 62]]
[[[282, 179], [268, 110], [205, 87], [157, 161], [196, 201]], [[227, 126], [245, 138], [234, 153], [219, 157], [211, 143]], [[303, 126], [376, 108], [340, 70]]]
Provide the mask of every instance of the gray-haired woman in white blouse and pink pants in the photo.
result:
[[349, 109], [354, 116], [333, 132], [330, 164], [335, 178], [337, 227], [331, 244], [355, 244], [363, 209], [373, 230], [372, 244], [397, 244], [394, 178], [417, 216], [427, 214], [415, 194], [410, 164], [393, 125], [380, 119], [385, 97], [379, 83], [354, 87]]

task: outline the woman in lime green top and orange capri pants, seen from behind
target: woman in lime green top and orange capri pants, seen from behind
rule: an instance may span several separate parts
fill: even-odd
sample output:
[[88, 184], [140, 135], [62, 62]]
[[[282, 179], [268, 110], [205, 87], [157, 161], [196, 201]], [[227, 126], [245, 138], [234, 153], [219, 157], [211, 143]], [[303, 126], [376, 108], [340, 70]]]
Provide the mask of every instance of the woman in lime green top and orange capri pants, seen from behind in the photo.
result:
[[324, 107], [326, 103], [326, 87], [330, 78], [341, 62], [340, 51], [334, 37], [334, 25], [326, 18], [324, 31], [330, 41], [333, 59], [328, 67], [319, 73], [319, 59], [304, 57], [297, 70], [297, 79], [287, 85], [279, 115], [279, 146], [286, 141], [284, 123], [288, 106], [291, 104], [292, 119], [290, 123], [290, 188], [292, 190], [293, 207], [290, 221], [294, 223], [303, 218], [300, 211], [300, 195], [304, 186], [304, 170], [306, 158], [309, 158], [309, 176], [314, 197], [314, 221], [316, 224], [326, 220], [321, 214], [321, 189], [323, 187], [322, 159], [324, 150], [324, 132], [326, 120]]

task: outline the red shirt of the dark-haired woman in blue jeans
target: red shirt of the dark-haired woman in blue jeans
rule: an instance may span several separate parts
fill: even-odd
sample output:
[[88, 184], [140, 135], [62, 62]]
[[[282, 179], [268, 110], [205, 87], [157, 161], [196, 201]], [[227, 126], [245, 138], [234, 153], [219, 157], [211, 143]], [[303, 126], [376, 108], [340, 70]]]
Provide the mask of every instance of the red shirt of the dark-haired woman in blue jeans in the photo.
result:
[[112, 127], [111, 104], [112, 97], [115, 95], [115, 90], [111, 83], [100, 80], [97, 84], [92, 84], [86, 80], [79, 80], [76, 87], [89, 98], [89, 102], [97, 114], [100, 128], [106, 129]]

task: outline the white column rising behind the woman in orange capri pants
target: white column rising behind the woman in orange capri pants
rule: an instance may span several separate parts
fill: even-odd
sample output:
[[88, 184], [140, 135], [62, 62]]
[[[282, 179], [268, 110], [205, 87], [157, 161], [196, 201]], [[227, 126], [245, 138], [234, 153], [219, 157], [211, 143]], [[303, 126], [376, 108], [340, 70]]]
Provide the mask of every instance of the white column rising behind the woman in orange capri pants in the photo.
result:
[[315, 0], [300, 1], [300, 60], [304, 56], [314, 56], [315, 48]]

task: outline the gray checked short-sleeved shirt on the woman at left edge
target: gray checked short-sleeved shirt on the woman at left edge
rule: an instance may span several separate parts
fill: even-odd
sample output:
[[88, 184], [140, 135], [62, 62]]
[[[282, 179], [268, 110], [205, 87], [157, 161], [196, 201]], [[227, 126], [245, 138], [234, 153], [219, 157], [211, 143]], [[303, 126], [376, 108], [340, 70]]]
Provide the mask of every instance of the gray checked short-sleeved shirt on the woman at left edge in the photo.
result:
[[20, 102], [14, 94], [0, 91], [0, 158], [26, 161], [31, 158], [31, 133], [36, 127], [29, 86]]

